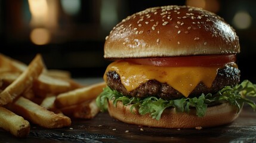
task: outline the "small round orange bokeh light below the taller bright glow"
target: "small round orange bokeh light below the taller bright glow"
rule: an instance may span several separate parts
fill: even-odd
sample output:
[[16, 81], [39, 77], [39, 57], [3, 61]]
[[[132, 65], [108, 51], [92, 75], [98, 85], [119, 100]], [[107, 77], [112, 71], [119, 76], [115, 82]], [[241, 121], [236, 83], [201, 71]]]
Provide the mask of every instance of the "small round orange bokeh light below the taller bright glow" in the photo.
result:
[[47, 29], [36, 28], [30, 33], [30, 39], [36, 45], [45, 45], [50, 42], [50, 32]]

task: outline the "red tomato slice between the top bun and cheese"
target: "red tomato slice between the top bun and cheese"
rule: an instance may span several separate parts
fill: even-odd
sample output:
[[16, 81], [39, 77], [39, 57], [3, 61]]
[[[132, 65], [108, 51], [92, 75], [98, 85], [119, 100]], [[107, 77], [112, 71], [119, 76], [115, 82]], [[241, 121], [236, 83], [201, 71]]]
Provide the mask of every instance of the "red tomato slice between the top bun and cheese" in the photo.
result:
[[181, 67], [181, 66], [220, 66], [227, 63], [235, 63], [236, 55], [194, 55], [183, 57], [163, 58], [131, 58], [129, 61], [135, 64], [150, 66]]

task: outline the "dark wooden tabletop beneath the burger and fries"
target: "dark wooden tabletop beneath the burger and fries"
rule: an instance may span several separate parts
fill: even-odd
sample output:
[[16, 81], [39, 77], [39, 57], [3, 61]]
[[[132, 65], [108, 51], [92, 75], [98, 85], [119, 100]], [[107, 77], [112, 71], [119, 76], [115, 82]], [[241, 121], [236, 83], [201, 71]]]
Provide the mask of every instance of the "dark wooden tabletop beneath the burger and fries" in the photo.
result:
[[256, 142], [256, 112], [245, 105], [233, 123], [215, 128], [162, 129], [128, 125], [99, 113], [91, 120], [72, 119], [61, 129], [31, 125], [27, 138], [15, 138], [0, 129], [0, 142]]

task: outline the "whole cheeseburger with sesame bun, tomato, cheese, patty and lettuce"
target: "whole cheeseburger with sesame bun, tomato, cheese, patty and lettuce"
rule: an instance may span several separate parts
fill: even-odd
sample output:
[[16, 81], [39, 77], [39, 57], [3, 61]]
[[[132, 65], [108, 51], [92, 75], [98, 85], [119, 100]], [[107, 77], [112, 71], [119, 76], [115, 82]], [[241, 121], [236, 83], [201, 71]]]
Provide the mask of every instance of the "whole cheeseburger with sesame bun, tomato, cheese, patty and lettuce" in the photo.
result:
[[218, 15], [189, 6], [148, 8], [118, 23], [104, 44], [112, 60], [101, 110], [125, 123], [195, 128], [235, 120], [256, 86], [240, 83], [235, 30]]

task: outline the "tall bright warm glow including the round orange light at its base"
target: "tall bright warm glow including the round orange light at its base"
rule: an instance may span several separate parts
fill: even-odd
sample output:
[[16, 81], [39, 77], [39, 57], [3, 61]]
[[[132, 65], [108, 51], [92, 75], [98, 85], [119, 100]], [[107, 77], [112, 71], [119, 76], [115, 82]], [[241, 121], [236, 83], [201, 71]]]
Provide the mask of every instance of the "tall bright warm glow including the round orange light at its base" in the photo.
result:
[[51, 41], [51, 35], [58, 32], [57, 0], [28, 0], [31, 13], [30, 40], [36, 45], [45, 45]]

